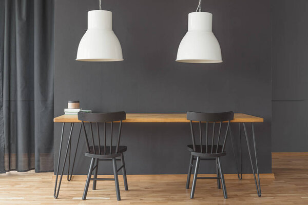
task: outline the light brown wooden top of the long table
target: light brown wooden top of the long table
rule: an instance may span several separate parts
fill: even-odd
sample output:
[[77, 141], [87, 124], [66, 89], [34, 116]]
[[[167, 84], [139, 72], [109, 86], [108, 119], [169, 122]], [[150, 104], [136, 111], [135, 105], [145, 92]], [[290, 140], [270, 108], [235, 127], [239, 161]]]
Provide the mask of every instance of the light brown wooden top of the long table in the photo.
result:
[[[77, 115], [61, 115], [53, 118], [54, 122], [81, 122]], [[189, 122], [186, 113], [126, 113], [123, 122]], [[234, 113], [230, 122], [263, 122], [263, 118], [243, 113]]]

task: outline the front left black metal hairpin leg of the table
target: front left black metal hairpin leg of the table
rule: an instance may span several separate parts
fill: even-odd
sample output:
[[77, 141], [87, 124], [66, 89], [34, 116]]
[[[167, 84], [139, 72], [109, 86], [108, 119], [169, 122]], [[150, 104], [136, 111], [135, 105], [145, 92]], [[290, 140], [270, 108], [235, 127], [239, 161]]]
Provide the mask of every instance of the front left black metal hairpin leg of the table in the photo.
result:
[[61, 172], [61, 176], [60, 176], [60, 180], [59, 180], [59, 185], [58, 185], [58, 187], [56, 189], [57, 178], [58, 178], [58, 175], [59, 175], [60, 159], [61, 159], [61, 148], [62, 148], [62, 142], [63, 142], [64, 123], [65, 122], [63, 122], [62, 134], [61, 134], [61, 142], [60, 142], [60, 150], [59, 150], [59, 160], [58, 160], [57, 168], [56, 168], [56, 177], [55, 177], [54, 192], [53, 192], [53, 197], [54, 198], [57, 198], [59, 196], [61, 181], [62, 181], [62, 177], [63, 177], [63, 171], [64, 171], [65, 162], [66, 162], [66, 158], [67, 158], [67, 153], [68, 153], [68, 150], [69, 150], [69, 147], [70, 147], [70, 141], [71, 141], [72, 131], [73, 131], [73, 127], [74, 127], [74, 123], [71, 123], [71, 129], [70, 129], [70, 134], [69, 134], [69, 138], [68, 138], [68, 142], [67, 142], [67, 147], [66, 147], [66, 152], [65, 152], [62, 172]]

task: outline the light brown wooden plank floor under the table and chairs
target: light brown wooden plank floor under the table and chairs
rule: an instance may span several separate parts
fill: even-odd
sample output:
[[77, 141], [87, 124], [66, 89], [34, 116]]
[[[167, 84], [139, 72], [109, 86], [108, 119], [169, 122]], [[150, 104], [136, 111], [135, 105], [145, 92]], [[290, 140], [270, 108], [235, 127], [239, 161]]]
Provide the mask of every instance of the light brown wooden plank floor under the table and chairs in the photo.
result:
[[[254, 180], [227, 179], [228, 199], [217, 189], [215, 179], [197, 182], [195, 198], [189, 199], [184, 175], [163, 175], [128, 181], [122, 201], [115, 196], [114, 181], [98, 181], [82, 200], [84, 180], [63, 180], [58, 199], [53, 198], [52, 173], [0, 174], [0, 204], [308, 204], [308, 156], [273, 156], [276, 179], [262, 179], [262, 197], [256, 194]], [[121, 175], [120, 175], [121, 178]]]

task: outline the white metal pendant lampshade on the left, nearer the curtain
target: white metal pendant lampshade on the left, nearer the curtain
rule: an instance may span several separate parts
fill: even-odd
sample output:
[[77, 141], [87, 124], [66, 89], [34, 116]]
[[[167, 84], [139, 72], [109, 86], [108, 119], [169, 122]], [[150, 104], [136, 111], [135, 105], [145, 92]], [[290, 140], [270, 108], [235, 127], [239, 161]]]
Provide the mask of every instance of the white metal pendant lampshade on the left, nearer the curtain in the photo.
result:
[[94, 10], [88, 12], [88, 30], [81, 38], [76, 60], [123, 60], [119, 39], [112, 31], [112, 12]]

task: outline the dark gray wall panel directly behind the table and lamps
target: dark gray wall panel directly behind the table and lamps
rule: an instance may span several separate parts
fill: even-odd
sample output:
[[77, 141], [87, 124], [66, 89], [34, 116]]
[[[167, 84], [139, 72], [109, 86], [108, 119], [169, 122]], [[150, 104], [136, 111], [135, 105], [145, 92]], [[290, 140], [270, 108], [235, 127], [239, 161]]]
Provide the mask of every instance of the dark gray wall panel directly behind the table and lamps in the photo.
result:
[[[221, 64], [177, 63], [177, 49], [187, 31], [188, 13], [195, 11], [197, 4], [198, 1], [186, 0], [102, 1], [103, 9], [113, 12], [113, 30], [120, 39], [125, 60], [97, 63], [74, 59], [87, 29], [87, 11], [98, 9], [98, 1], [56, 0], [54, 115], [63, 114], [67, 100], [80, 99], [83, 109], [96, 112], [233, 110], [261, 116], [264, 123], [255, 125], [259, 169], [261, 173], [270, 173], [269, 1], [203, 1], [202, 9], [213, 13], [213, 30], [224, 61]], [[237, 125], [233, 126], [237, 133]], [[56, 124], [55, 163], [60, 133], [61, 125]], [[127, 173], [186, 173], [189, 153], [185, 146], [191, 143], [189, 134], [188, 124], [124, 124], [122, 144], [128, 146]], [[244, 143], [243, 171], [247, 173], [251, 169]], [[85, 174], [90, 163], [83, 156], [84, 151], [83, 145], [78, 153], [78, 174]], [[229, 144], [227, 152], [223, 167], [226, 173], [234, 173]], [[213, 166], [202, 164], [202, 173], [214, 172]], [[111, 173], [111, 167], [100, 169], [101, 173]]]

